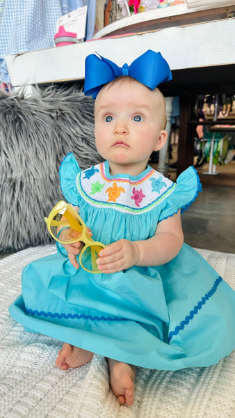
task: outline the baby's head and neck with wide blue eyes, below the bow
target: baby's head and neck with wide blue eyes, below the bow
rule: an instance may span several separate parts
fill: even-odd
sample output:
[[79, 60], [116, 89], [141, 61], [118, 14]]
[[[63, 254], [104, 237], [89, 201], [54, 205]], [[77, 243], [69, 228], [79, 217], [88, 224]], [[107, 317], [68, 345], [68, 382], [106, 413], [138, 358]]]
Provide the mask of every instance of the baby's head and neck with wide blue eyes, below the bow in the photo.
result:
[[158, 91], [128, 78], [104, 86], [95, 101], [95, 139], [111, 174], [134, 176], [145, 170], [152, 151], [165, 144], [162, 123]]

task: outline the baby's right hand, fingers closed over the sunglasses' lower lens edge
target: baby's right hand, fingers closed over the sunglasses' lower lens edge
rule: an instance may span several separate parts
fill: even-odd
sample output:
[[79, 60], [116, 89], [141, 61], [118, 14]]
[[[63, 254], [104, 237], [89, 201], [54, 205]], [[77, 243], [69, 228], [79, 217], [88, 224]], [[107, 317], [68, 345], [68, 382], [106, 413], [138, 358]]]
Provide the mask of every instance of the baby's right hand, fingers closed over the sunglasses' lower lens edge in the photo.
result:
[[140, 253], [136, 242], [119, 240], [99, 252], [97, 265], [102, 273], [125, 270], [139, 261]]

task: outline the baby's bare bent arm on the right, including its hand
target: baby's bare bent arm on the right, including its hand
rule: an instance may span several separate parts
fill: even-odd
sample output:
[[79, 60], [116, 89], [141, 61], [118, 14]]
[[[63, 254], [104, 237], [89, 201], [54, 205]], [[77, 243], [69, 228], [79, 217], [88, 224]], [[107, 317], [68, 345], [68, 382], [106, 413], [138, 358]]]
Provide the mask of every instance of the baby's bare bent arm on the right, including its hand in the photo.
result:
[[161, 221], [149, 240], [119, 240], [99, 253], [97, 264], [104, 273], [119, 272], [132, 265], [162, 265], [175, 258], [184, 242], [180, 210]]

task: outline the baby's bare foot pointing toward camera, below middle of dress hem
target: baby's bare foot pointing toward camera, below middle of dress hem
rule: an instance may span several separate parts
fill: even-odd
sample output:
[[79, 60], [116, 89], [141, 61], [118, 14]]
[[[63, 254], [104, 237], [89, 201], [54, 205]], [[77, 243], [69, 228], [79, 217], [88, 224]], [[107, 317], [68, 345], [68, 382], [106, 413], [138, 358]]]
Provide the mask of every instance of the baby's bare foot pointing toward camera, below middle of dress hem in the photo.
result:
[[117, 396], [118, 401], [124, 405], [133, 405], [134, 381], [136, 376], [136, 368], [127, 363], [117, 362], [108, 359], [108, 368], [110, 374], [110, 384], [113, 393]]

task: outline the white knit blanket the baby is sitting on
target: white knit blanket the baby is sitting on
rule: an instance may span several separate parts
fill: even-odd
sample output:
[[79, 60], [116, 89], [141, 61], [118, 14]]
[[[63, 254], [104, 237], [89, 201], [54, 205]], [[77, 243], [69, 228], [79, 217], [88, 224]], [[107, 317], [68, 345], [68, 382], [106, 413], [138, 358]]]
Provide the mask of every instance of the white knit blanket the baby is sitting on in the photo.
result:
[[[137, 368], [135, 402], [120, 405], [108, 383], [106, 359], [95, 355], [79, 369], [55, 364], [62, 343], [24, 331], [8, 314], [21, 293], [21, 271], [53, 245], [0, 261], [1, 418], [231, 418], [235, 416], [235, 351], [219, 364], [180, 371]], [[235, 255], [198, 250], [235, 288]], [[235, 330], [234, 330], [235, 332]]]

